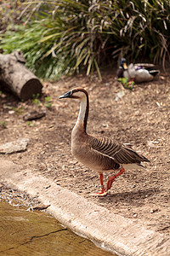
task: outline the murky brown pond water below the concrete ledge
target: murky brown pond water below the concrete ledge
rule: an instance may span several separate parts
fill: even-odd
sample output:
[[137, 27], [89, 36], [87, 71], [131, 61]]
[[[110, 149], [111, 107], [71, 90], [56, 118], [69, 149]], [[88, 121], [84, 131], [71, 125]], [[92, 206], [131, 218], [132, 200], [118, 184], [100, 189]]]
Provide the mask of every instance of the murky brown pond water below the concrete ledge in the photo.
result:
[[0, 201], [0, 255], [113, 256], [77, 236], [45, 212]]

